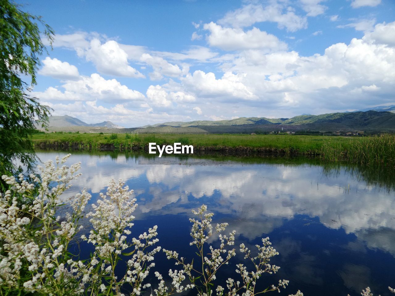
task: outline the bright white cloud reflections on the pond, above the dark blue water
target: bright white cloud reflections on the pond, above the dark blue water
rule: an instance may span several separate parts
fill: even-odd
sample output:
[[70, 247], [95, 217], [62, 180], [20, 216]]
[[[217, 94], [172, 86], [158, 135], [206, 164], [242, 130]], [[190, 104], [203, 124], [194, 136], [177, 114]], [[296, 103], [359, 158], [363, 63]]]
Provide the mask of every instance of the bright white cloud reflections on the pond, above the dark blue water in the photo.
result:
[[[55, 155], [39, 154], [41, 160], [55, 159]], [[211, 160], [190, 166], [138, 165], [138, 161], [122, 154], [116, 158], [71, 155], [68, 164], [77, 161], [82, 163], [83, 175], [73, 181], [68, 195], [84, 187], [98, 193], [111, 178], [122, 178], [139, 200], [137, 219], [147, 212], [190, 216], [190, 209], [204, 202], [210, 211], [234, 216], [236, 221], [230, 226], [254, 239], [280, 227], [282, 219], [303, 214], [319, 217], [328, 228], [342, 227], [347, 233], [355, 233], [371, 248], [394, 252], [387, 238], [388, 231], [394, 237], [394, 194], [358, 182], [341, 170], [338, 175], [324, 176], [320, 166], [213, 165]]]

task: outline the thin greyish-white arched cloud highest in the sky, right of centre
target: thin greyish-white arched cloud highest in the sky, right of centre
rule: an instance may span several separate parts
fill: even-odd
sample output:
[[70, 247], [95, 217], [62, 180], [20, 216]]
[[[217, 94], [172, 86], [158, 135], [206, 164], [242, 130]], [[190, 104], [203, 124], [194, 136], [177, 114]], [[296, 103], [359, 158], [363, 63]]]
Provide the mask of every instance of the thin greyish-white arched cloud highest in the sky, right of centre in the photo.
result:
[[276, 22], [278, 28], [286, 28], [290, 32], [307, 28], [306, 17], [296, 15], [291, 7], [276, 1], [265, 7], [248, 4], [235, 11], [229, 11], [218, 24], [238, 28], [248, 27], [256, 22]]

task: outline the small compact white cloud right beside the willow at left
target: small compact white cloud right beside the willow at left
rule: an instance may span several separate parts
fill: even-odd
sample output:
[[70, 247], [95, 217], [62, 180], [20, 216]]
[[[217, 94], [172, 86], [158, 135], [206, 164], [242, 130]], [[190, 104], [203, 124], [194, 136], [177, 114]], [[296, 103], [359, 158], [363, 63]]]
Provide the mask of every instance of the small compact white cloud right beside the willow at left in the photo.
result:
[[38, 72], [41, 75], [63, 80], [78, 79], [77, 67], [70, 65], [68, 62], [62, 62], [57, 58], [51, 59], [49, 56], [42, 62], [44, 66]]

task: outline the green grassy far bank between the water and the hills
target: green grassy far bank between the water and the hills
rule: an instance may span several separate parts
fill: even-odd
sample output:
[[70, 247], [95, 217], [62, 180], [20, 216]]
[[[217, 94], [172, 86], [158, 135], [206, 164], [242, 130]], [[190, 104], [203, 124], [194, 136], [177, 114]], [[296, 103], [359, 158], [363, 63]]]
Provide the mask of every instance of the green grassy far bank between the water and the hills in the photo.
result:
[[395, 135], [328, 137], [296, 135], [174, 135], [174, 134], [36, 134], [40, 148], [141, 149], [158, 145], [193, 145], [195, 151], [263, 152], [317, 155], [330, 161], [348, 160], [363, 165], [395, 167]]

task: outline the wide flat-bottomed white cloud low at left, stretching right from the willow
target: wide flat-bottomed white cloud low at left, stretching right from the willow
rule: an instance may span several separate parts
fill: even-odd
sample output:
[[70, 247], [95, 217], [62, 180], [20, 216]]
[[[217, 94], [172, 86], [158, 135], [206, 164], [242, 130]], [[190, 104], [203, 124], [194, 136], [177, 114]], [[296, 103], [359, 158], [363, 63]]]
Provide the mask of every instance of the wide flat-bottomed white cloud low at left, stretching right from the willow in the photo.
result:
[[144, 95], [140, 92], [129, 89], [116, 79], [106, 80], [96, 73], [90, 77], [80, 76], [77, 81], [66, 81], [62, 88], [64, 92], [49, 87], [44, 92], [34, 92], [34, 95], [45, 101], [96, 101], [99, 99], [114, 103], [144, 99]]

